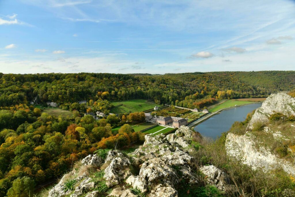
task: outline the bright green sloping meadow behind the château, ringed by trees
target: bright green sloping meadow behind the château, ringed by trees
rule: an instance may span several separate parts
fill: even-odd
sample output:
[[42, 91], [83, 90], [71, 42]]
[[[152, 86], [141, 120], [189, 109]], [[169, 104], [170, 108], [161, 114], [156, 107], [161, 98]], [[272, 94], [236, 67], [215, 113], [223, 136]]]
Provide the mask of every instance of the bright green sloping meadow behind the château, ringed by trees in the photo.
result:
[[112, 102], [115, 106], [111, 109], [111, 113], [128, 113], [128, 112], [141, 112], [154, 108], [155, 102], [144, 99], [133, 99], [128, 101]]

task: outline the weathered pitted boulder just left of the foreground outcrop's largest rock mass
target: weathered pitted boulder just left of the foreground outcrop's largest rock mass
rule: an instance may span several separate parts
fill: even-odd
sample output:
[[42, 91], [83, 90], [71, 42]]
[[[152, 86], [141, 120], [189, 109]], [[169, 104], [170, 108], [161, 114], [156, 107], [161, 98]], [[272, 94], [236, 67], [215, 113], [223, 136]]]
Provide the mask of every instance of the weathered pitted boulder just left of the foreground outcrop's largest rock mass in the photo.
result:
[[107, 181], [106, 185], [111, 187], [119, 184], [122, 180], [130, 176], [129, 165], [131, 165], [131, 162], [126, 157], [113, 158], [110, 165], [104, 170], [104, 178]]

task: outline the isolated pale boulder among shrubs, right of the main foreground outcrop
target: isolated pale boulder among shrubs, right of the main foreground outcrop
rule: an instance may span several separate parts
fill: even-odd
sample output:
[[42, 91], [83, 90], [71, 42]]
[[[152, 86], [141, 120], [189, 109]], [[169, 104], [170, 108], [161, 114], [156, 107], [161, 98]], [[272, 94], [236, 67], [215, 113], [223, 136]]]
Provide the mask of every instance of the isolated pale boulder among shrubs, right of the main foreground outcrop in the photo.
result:
[[213, 165], [203, 166], [200, 168], [201, 172], [207, 176], [207, 182], [215, 185], [221, 191], [225, 191], [225, 185], [229, 183], [229, 178], [226, 173], [219, 170]]

